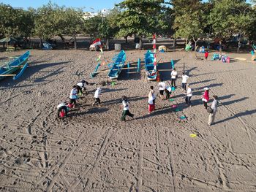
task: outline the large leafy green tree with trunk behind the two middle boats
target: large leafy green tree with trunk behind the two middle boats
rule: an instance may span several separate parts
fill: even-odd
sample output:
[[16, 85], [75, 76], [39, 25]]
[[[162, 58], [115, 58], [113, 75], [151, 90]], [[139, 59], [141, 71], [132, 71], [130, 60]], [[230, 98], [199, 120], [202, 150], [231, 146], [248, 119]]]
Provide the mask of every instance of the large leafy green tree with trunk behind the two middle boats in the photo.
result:
[[118, 37], [126, 37], [129, 34], [137, 34], [140, 37], [151, 37], [157, 30], [159, 20], [157, 15], [161, 11], [163, 0], [125, 0], [118, 4], [123, 9], [121, 20], [118, 22], [120, 31]]

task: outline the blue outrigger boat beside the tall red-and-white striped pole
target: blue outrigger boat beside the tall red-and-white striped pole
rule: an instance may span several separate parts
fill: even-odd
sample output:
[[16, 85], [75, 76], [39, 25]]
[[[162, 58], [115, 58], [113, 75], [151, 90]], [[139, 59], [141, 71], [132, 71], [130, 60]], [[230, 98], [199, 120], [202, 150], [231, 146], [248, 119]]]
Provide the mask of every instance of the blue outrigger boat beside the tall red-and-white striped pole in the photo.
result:
[[157, 66], [154, 66], [154, 53], [150, 50], [145, 54], [145, 69], [148, 80], [157, 80]]

